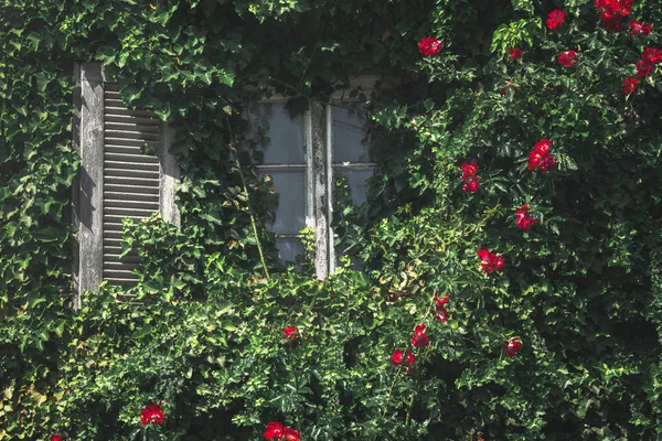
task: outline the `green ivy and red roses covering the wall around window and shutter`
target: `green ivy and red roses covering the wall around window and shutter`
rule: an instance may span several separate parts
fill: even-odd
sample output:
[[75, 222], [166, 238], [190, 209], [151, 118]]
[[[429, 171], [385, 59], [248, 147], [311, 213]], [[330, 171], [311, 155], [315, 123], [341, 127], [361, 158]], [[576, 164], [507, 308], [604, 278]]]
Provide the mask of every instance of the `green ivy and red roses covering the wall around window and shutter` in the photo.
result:
[[[0, 2], [0, 440], [662, 435], [656, 0], [153, 1]], [[175, 128], [182, 222], [127, 223], [135, 297], [74, 313], [81, 61]], [[366, 73], [401, 86], [320, 282], [242, 105]]]

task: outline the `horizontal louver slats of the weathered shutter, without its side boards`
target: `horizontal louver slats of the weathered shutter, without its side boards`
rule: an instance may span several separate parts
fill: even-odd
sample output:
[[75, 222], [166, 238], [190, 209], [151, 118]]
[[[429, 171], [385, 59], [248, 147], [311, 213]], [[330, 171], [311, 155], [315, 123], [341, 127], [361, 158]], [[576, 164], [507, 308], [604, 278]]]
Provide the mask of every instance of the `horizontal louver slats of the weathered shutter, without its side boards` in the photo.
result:
[[121, 222], [159, 212], [162, 128], [148, 110], [127, 108], [115, 84], [104, 85], [104, 280], [135, 282], [139, 258], [121, 259]]

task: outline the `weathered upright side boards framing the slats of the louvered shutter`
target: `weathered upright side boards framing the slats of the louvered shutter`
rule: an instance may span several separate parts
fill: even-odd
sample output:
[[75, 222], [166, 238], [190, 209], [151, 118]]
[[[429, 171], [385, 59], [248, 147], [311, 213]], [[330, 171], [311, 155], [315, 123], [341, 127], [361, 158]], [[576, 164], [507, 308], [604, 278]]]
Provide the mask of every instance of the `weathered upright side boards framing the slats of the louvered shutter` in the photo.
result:
[[[77, 63], [74, 66], [74, 148], [81, 157], [81, 171], [72, 190], [72, 227], [74, 243], [74, 309], [82, 306], [82, 294], [98, 291], [103, 281], [104, 216], [104, 84], [106, 73], [100, 63]], [[179, 166], [170, 153], [173, 131], [162, 123], [160, 149], [159, 206], [166, 222], [179, 225], [174, 201]]]

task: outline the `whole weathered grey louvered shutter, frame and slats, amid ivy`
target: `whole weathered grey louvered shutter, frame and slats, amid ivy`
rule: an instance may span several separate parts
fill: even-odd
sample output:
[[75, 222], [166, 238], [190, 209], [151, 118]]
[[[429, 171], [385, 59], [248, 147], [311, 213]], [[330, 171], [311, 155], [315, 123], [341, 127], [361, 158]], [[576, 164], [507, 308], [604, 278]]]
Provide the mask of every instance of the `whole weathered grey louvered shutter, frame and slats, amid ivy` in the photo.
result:
[[160, 212], [178, 223], [174, 182], [178, 166], [168, 152], [172, 133], [148, 110], [126, 107], [98, 63], [75, 68], [74, 144], [81, 173], [73, 189], [73, 227], [78, 232], [74, 259], [74, 305], [82, 292], [103, 280], [132, 283], [138, 256], [119, 258], [121, 220]]

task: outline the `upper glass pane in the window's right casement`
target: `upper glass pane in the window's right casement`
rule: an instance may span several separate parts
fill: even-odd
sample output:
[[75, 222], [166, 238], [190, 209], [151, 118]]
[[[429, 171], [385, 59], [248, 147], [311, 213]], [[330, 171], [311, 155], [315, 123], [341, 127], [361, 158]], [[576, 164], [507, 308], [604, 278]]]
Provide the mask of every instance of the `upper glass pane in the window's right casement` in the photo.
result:
[[333, 162], [369, 162], [364, 112], [332, 107], [332, 116]]

